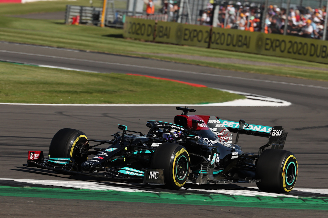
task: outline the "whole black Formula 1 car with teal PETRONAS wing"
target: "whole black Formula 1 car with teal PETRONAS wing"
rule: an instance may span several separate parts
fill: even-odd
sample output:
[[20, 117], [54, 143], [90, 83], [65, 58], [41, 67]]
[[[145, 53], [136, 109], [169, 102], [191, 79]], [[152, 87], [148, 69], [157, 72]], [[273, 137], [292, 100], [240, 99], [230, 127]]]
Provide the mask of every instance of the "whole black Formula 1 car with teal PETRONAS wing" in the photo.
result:
[[[182, 114], [175, 116], [174, 123], [148, 121], [147, 135], [118, 125], [121, 132], [111, 135], [113, 139], [95, 140], [75, 129], [61, 129], [51, 140], [49, 158], [44, 158], [43, 151], [29, 151], [24, 166], [109, 180], [139, 180], [174, 190], [186, 182], [256, 183], [262, 191], [281, 193], [293, 189], [297, 159], [293, 153], [282, 150], [287, 133], [281, 126], [188, 115], [195, 110], [176, 109], [182, 110]], [[234, 143], [232, 133], [236, 133]], [[269, 140], [258, 154], [245, 154], [237, 145], [241, 134]]]

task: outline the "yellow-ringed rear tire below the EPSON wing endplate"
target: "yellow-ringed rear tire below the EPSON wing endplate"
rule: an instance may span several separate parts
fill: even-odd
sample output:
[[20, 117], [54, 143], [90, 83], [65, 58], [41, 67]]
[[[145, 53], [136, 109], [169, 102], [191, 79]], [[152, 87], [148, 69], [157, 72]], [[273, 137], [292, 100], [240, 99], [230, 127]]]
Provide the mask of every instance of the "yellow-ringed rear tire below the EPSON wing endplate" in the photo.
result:
[[280, 149], [267, 149], [258, 158], [256, 185], [261, 191], [288, 193], [297, 179], [297, 159], [292, 152]]

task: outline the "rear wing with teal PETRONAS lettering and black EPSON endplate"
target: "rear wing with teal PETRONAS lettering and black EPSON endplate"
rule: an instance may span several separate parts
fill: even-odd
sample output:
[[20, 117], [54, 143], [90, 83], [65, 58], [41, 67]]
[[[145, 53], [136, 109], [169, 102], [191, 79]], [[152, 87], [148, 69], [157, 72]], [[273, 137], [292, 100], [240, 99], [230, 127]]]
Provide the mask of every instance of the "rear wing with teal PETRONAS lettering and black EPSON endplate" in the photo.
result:
[[271, 146], [272, 149], [283, 149], [287, 138], [282, 126], [260, 126], [256, 124], [247, 124], [245, 120], [239, 120], [239, 122], [219, 119], [220, 123], [223, 124], [232, 133], [237, 133], [235, 144], [238, 142], [240, 134], [253, 135], [268, 137], [268, 143], [259, 148], [258, 154], [261, 154], [266, 147]]

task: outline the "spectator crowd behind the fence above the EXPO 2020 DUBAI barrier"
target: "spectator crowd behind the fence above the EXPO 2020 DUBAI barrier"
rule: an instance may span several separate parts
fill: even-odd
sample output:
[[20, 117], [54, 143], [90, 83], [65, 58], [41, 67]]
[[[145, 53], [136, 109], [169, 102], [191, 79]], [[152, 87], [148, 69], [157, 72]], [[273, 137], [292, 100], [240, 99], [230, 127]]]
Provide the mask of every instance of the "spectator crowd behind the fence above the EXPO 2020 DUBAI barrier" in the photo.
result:
[[[225, 6], [219, 6], [218, 19], [213, 22], [213, 5], [208, 4], [200, 20], [201, 25], [235, 28], [248, 31], [261, 31], [263, 4], [232, 2]], [[269, 5], [265, 14], [265, 33], [283, 34], [285, 20], [287, 18], [287, 35], [302, 36], [306, 38], [322, 39], [326, 7], [312, 9], [311, 7], [278, 8], [277, 5]], [[327, 40], [326, 34], [326, 40]]]

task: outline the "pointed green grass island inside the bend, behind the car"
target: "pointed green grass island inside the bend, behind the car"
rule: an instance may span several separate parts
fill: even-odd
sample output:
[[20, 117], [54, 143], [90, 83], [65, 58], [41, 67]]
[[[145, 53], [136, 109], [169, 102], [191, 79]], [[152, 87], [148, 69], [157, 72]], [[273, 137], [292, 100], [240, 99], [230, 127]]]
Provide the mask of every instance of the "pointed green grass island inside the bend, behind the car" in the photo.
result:
[[243, 96], [178, 82], [0, 62], [0, 102], [66, 104], [202, 104]]

